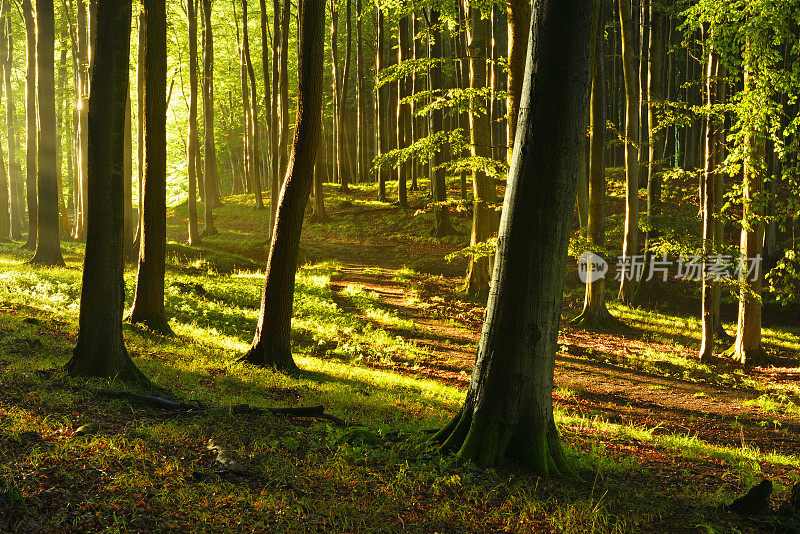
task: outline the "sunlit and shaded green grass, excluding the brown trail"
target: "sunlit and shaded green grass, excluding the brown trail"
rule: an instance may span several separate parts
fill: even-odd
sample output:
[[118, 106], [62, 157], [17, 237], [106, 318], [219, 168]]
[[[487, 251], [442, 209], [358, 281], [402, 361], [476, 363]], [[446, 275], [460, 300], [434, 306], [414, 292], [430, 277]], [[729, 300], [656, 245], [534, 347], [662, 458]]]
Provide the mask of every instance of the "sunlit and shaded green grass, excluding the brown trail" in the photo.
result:
[[[429, 214], [413, 216], [376, 203], [369, 198], [371, 186], [357, 186], [351, 197], [329, 190], [329, 209], [338, 213], [338, 222], [309, 225], [303, 237], [309, 261], [298, 271], [292, 321], [299, 376], [236, 361], [255, 328], [266, 246], [266, 212], [251, 210], [245, 197], [225, 199], [216, 212], [223, 233], [202, 248], [180, 244], [185, 229], [181, 208], [175, 209], [165, 304], [176, 337], [126, 324], [125, 341], [145, 374], [177, 398], [218, 406], [324, 404], [380, 442], [348, 444], [343, 430], [330, 423], [267, 415], [221, 411], [169, 418], [96, 393], [118, 384], [37, 373], [60, 368], [75, 344], [82, 246], [63, 245], [66, 268], [33, 269], [24, 264], [18, 244], [0, 244], [0, 495], [6, 507], [0, 521], [11, 518], [22, 531], [58, 532], [612, 533], [670, 532], [676, 524], [701, 523], [748, 532], [755, 529], [711, 507], [763, 473], [800, 467], [796, 456], [747, 443], [716, 445], [659, 426], [609, 422], [569, 406], [557, 406], [555, 417], [581, 480], [540, 479], [513, 465], [479, 470], [440, 455], [427, 431], [455, 413], [463, 389], [421, 372], [431, 354], [395, 334], [416, 327], [375, 293], [351, 284], [334, 295], [331, 279], [342, 265], [329, 256], [366, 239], [359, 210], [383, 210], [371, 216], [380, 217], [376, 226], [390, 230], [370, 237], [366, 247], [378, 250], [388, 243], [395, 260], [406, 258], [402, 247], [419, 249], [392, 274], [415, 293], [425, 282], [424, 266], [441, 263], [443, 250], [463, 246], [466, 236], [434, 242], [426, 235]], [[421, 201], [422, 193], [414, 198]], [[458, 223], [463, 228], [468, 220]], [[383, 274], [384, 268], [373, 265], [365, 274]], [[130, 305], [131, 266], [125, 281]], [[192, 289], [196, 284], [202, 292]], [[345, 312], [342, 302], [359, 314]], [[653, 340], [674, 341], [679, 334], [696, 339], [698, 325], [690, 318], [620, 306], [614, 312]], [[798, 346], [791, 331], [768, 330], [766, 336], [787, 350]], [[395, 366], [398, 361], [412, 365]], [[762, 382], [734, 371], [714, 378], [714, 369], [675, 354], [652, 352], [619, 363], [656, 376], [764, 388], [764, 399], [756, 402], [766, 409], [796, 406], [794, 390], [784, 387], [791, 394], [776, 397], [778, 390]], [[583, 394], [579, 388], [556, 391], [568, 401]], [[73, 435], [89, 422], [100, 423], [97, 434]], [[30, 432], [39, 439], [31, 441]], [[205, 448], [210, 438], [253, 476], [214, 474], [213, 455]], [[721, 470], [728, 482], [710, 493], [707, 486], [688, 483], [676, 489], [672, 481], [678, 475], [645, 461], [648, 455], [682, 468]]]

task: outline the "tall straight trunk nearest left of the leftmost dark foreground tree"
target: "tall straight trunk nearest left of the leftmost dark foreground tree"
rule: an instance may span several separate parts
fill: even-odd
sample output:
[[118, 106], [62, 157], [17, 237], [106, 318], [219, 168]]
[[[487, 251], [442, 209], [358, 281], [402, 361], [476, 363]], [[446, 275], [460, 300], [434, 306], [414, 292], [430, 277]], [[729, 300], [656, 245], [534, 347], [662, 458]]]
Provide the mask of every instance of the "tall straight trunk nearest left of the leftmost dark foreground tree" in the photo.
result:
[[56, 168], [55, 7], [36, 0], [36, 69], [39, 78], [39, 150], [36, 251], [31, 263], [64, 265], [58, 235], [58, 169]]

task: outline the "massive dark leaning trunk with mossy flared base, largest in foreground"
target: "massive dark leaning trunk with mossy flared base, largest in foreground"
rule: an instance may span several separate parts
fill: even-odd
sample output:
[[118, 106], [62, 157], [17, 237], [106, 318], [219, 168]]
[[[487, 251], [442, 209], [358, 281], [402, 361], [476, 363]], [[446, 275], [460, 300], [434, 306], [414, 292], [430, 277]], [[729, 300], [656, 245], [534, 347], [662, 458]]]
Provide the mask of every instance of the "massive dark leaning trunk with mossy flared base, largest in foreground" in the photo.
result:
[[597, 4], [542, 0], [533, 11], [486, 320], [464, 406], [436, 436], [478, 465], [572, 471], [553, 418], [553, 370]]

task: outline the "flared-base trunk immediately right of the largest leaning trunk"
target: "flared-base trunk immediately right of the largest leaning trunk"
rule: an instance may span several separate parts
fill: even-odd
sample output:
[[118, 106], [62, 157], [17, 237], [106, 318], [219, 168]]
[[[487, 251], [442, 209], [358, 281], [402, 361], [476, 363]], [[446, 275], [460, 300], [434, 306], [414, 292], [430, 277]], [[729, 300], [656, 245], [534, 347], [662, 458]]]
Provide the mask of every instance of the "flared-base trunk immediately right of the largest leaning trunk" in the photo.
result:
[[[601, 2], [602, 5], [602, 2]], [[589, 204], [587, 210], [586, 240], [589, 249], [605, 245], [605, 65], [603, 53], [604, 13], [600, 11], [595, 30], [594, 60], [592, 75], [592, 94], [589, 107]], [[618, 324], [606, 306], [606, 280], [594, 273], [594, 262], [588, 262], [586, 273], [586, 296], [583, 311], [571, 322], [574, 326], [587, 329], [607, 328]], [[597, 278], [597, 279], [595, 279]]]

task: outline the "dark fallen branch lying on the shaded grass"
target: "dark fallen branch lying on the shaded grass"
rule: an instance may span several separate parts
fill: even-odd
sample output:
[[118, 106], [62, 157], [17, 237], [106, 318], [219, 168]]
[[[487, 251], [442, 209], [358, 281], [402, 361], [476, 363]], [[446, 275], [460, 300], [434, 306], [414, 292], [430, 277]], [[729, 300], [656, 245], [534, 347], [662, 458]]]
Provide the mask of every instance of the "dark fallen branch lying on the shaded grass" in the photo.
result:
[[250, 406], [249, 404], [237, 404], [234, 406], [207, 406], [204, 404], [186, 404], [183, 402], [175, 402], [163, 397], [141, 395], [139, 393], [130, 393], [127, 391], [99, 389], [97, 390], [97, 394], [103, 397], [110, 397], [114, 399], [125, 399], [131, 404], [169, 410], [170, 415], [195, 415], [211, 411], [225, 411], [232, 414], [272, 414], [283, 415], [286, 417], [311, 417], [316, 419], [325, 419], [338, 426], [348, 426], [347, 421], [344, 419], [329, 413], [325, 413], [324, 406], [298, 406], [296, 408], [260, 408], [258, 406]]

